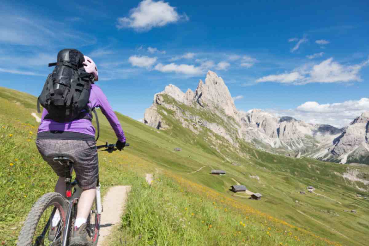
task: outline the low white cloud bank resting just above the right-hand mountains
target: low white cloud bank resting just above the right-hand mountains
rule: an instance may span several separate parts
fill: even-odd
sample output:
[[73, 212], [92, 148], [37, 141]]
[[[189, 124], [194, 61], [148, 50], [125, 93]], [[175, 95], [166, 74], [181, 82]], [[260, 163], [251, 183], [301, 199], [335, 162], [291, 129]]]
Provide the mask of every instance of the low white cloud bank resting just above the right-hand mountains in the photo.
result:
[[308, 101], [294, 109], [267, 111], [279, 116], [291, 116], [311, 124], [329, 124], [341, 128], [363, 112], [369, 111], [369, 98], [328, 104]]

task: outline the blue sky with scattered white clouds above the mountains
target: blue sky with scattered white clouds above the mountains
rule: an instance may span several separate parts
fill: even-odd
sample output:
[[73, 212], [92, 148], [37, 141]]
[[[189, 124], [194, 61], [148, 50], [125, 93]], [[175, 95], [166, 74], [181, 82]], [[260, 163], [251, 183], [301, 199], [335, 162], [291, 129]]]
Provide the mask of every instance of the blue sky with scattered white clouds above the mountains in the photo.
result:
[[239, 110], [337, 126], [369, 110], [365, 1], [86, 3], [5, 1], [0, 85], [38, 96], [47, 64], [77, 48], [96, 62], [113, 108], [135, 119], [167, 84], [194, 90], [207, 70]]

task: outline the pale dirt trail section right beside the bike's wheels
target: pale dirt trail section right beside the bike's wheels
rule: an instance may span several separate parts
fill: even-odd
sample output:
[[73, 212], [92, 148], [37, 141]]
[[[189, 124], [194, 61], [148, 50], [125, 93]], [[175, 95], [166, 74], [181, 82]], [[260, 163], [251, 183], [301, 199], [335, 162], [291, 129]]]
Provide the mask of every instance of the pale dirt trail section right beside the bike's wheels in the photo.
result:
[[115, 226], [120, 225], [120, 218], [124, 212], [130, 190], [131, 186], [114, 186], [105, 195], [103, 212], [101, 213], [99, 243], [97, 245], [108, 245], [107, 242], [104, 243], [104, 240]]

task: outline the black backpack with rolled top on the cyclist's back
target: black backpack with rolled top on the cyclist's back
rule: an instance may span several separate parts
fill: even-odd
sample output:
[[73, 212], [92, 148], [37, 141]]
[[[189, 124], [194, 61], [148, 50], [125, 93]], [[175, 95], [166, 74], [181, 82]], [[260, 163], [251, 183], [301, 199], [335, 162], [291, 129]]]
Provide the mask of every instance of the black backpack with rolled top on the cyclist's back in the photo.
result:
[[[46, 79], [44, 88], [37, 99], [37, 111], [40, 104], [48, 114], [45, 119], [56, 122], [70, 122], [75, 119], [90, 119], [93, 111], [97, 122], [97, 139], [99, 138], [99, 120], [96, 111], [88, 105], [93, 75], [86, 73], [83, 54], [76, 49], [63, 49], [58, 53], [56, 66]], [[96, 139], [96, 140], [97, 140]]]

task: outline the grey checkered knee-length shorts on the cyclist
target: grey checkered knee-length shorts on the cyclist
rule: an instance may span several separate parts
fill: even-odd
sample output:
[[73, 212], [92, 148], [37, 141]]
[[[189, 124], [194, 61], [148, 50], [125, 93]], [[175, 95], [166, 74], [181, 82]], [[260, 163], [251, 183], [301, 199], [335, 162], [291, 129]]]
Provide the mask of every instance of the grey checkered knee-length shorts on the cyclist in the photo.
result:
[[52, 159], [56, 156], [66, 156], [74, 161], [73, 168], [78, 186], [84, 190], [96, 188], [99, 159], [95, 141], [37, 139], [36, 145], [42, 158], [59, 177], [65, 177], [65, 167]]

